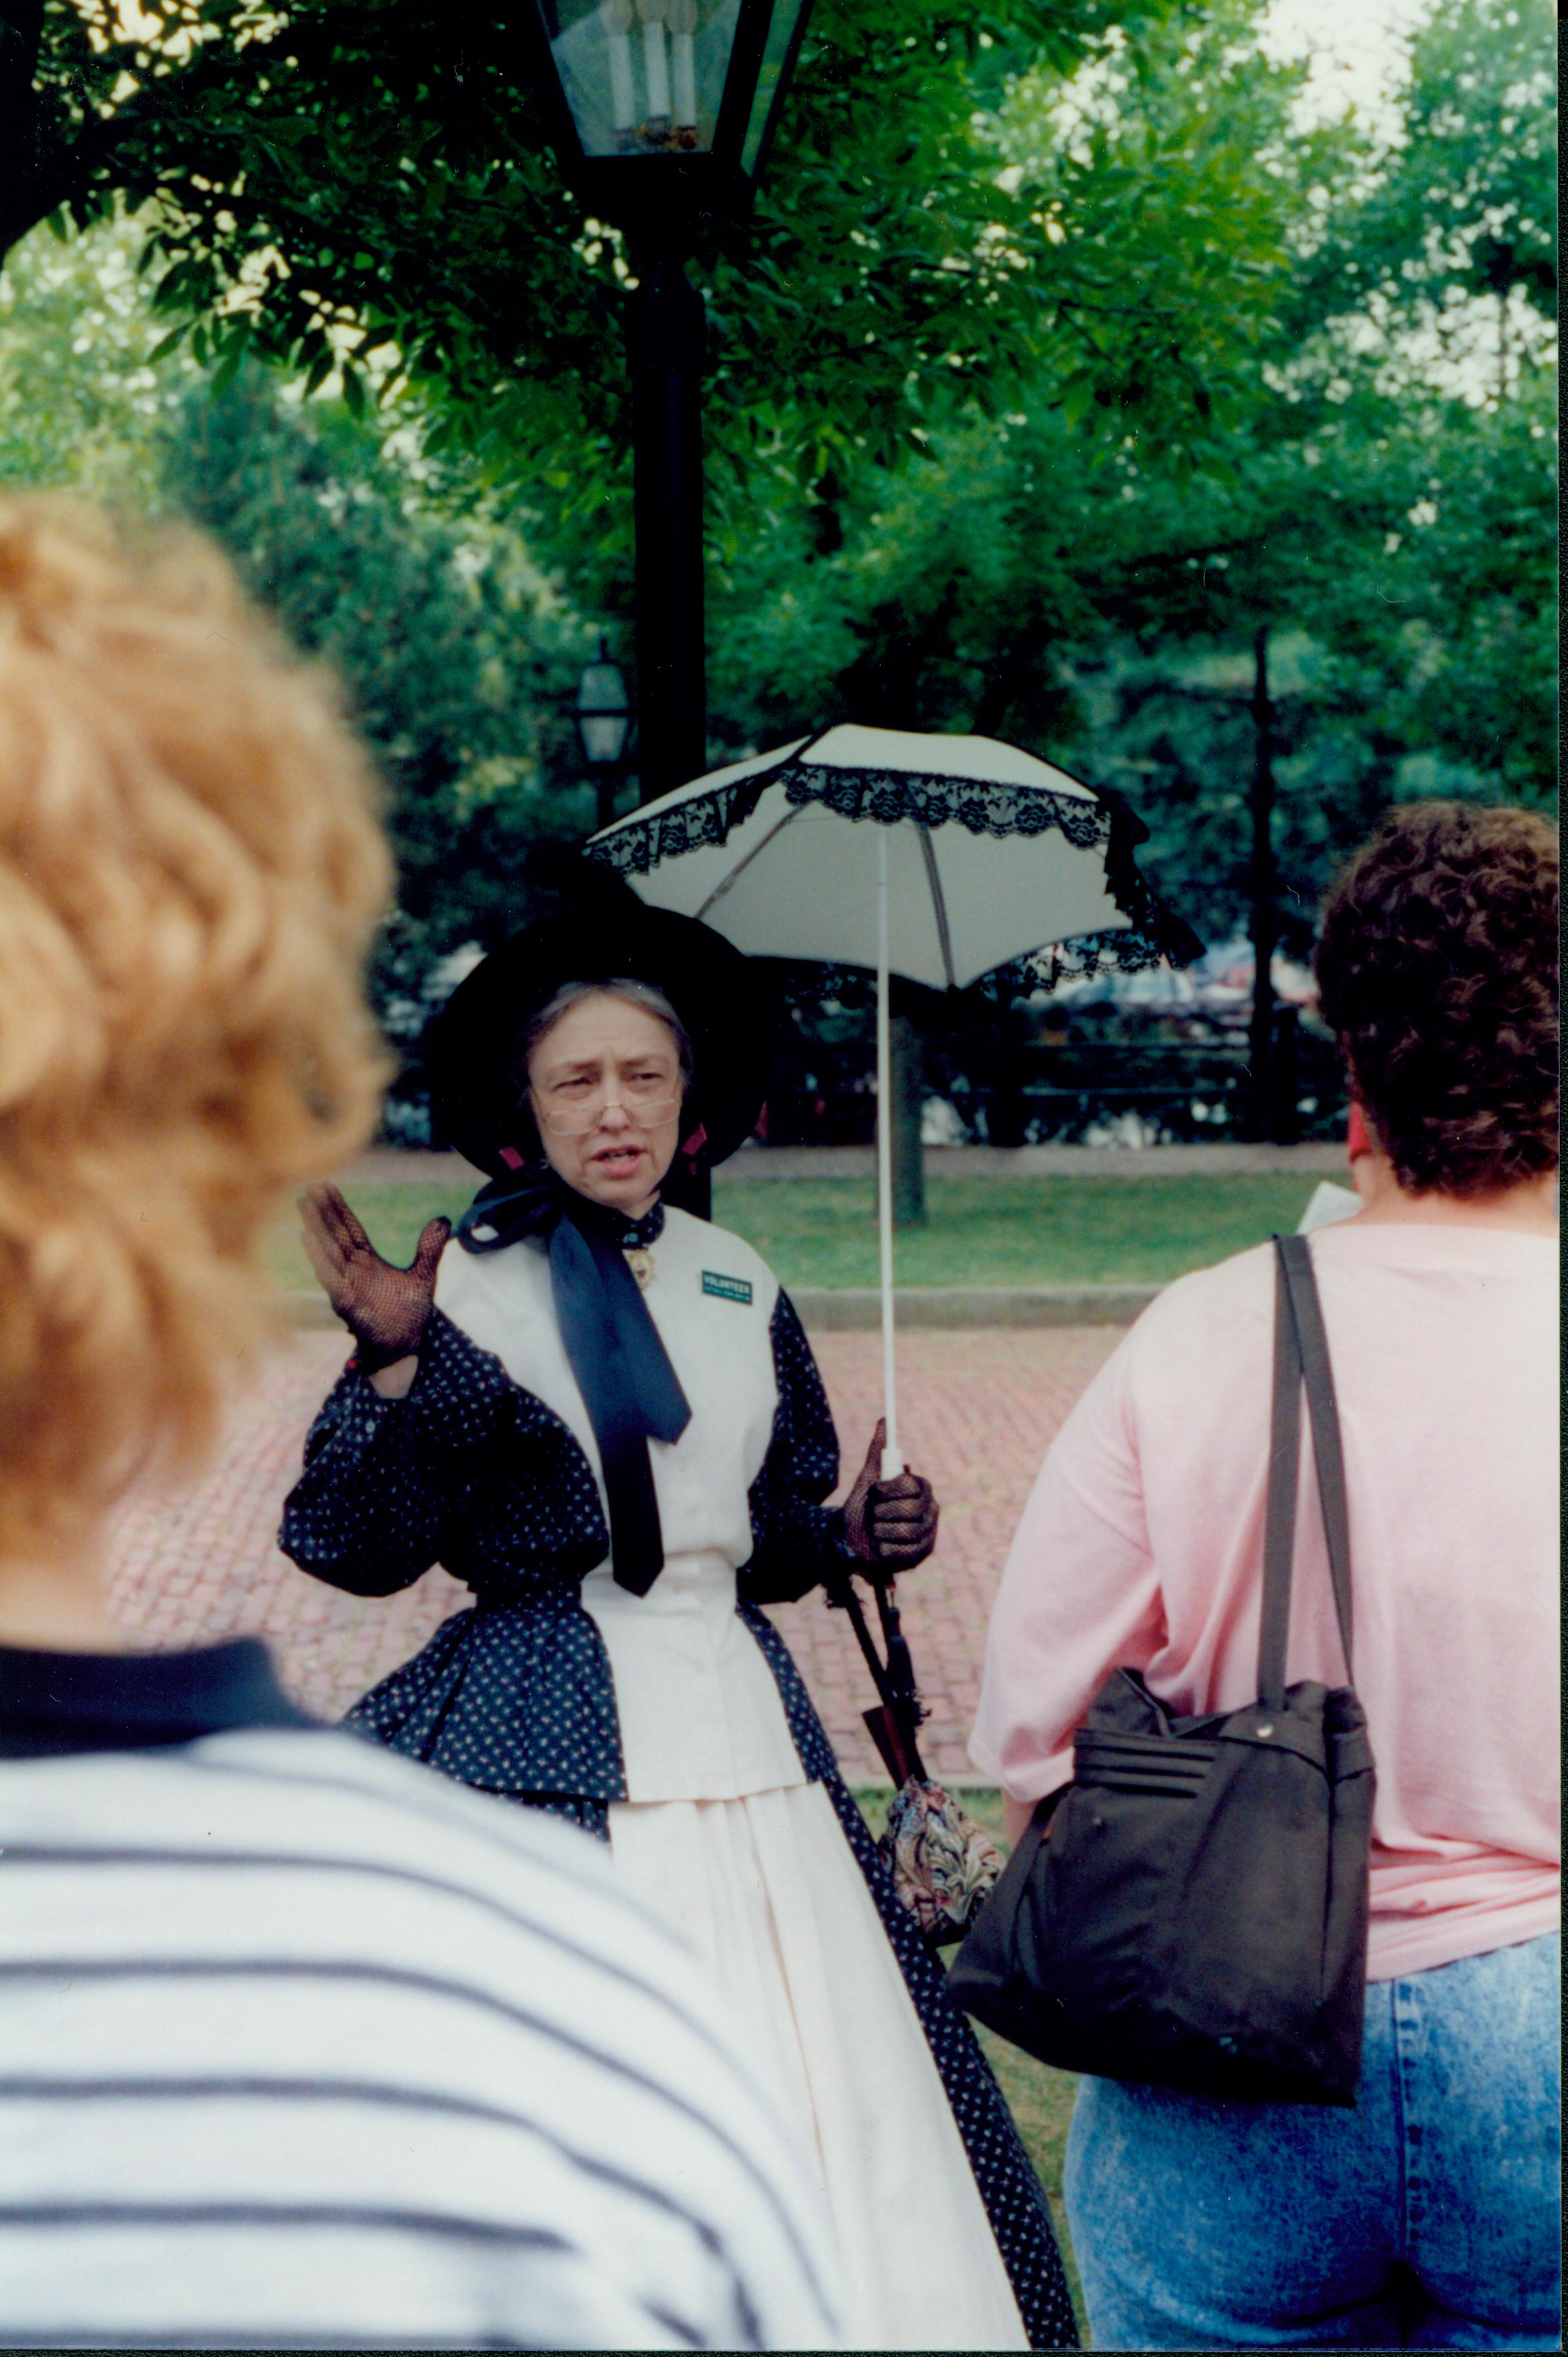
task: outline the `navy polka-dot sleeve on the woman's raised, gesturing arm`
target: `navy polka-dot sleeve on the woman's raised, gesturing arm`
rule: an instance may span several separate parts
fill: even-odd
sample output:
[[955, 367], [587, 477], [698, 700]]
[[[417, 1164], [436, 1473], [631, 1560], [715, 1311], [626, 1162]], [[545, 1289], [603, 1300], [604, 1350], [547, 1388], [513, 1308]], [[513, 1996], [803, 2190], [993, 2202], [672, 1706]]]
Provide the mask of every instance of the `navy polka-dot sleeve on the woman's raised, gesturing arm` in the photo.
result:
[[403, 1400], [354, 1367], [304, 1442], [278, 1544], [351, 1596], [391, 1596], [443, 1563], [488, 1603], [575, 1589], [608, 1553], [587, 1457], [441, 1310]]

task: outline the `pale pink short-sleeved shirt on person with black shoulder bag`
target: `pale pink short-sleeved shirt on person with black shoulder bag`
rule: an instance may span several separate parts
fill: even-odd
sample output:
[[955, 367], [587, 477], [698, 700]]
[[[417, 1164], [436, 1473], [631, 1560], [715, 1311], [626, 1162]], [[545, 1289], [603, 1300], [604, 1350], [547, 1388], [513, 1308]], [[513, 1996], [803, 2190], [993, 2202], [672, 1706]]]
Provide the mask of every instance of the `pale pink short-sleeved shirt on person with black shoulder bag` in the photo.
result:
[[[1394, 1980], [1556, 1928], [1556, 1244], [1351, 1219], [1311, 1252], [1377, 1761], [1368, 1968]], [[1068, 1782], [1118, 1664], [1184, 1714], [1257, 1695], [1271, 1336], [1273, 1247], [1181, 1277], [1056, 1435], [969, 1742], [1014, 1798]], [[1306, 1447], [1290, 1678], [1344, 1683]]]

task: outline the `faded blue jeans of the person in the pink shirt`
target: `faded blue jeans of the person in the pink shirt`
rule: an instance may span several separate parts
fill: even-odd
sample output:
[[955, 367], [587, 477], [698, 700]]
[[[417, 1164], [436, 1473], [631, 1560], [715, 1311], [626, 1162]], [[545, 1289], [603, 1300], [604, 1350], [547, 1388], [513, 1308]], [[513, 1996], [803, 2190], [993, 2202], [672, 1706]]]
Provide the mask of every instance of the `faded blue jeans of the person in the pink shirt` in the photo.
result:
[[1559, 2348], [1559, 2018], [1554, 1933], [1372, 1982], [1353, 2112], [1085, 2079], [1094, 2348]]

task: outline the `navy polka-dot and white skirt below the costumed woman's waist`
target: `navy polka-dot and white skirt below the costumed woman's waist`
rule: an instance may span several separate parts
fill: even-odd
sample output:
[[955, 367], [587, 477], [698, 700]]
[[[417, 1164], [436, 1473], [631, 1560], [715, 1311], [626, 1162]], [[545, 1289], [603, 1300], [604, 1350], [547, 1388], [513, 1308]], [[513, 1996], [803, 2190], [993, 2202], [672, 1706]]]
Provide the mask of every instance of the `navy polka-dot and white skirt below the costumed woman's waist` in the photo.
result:
[[[736, 1605], [729, 1565], [722, 1617], [674, 1612], [677, 1567], [634, 1622], [589, 1596], [608, 1633], [575, 1600], [457, 1612], [351, 1723], [608, 1838], [630, 1888], [684, 1928], [795, 2112], [842, 2244], [849, 2345], [1075, 2348], [1019, 2131], [780, 1633]], [[705, 1584], [686, 1582], [698, 1605]], [[745, 1650], [726, 1643], [740, 1629]]]

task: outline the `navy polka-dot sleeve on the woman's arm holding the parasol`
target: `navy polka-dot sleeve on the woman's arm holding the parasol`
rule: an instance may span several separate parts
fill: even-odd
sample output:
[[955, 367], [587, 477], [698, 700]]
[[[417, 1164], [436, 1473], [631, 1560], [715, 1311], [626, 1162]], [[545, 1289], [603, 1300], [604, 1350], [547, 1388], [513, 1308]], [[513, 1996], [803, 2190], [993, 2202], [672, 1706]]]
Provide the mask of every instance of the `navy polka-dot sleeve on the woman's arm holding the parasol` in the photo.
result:
[[773, 1438], [750, 1487], [752, 1560], [738, 1582], [740, 1598], [752, 1605], [795, 1603], [849, 1560], [844, 1516], [823, 1506], [839, 1478], [839, 1435], [811, 1343], [785, 1292], [773, 1310]]

